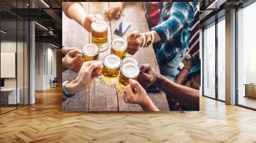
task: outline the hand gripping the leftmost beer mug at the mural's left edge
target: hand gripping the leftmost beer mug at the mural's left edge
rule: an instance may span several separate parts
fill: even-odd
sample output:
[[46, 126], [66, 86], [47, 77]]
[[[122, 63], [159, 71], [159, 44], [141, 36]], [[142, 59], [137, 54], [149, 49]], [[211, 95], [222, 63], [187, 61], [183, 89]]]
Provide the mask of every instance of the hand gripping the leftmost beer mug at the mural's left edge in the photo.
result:
[[83, 52], [81, 50], [70, 50], [65, 57], [62, 58], [62, 69], [70, 69], [78, 72], [83, 64]]

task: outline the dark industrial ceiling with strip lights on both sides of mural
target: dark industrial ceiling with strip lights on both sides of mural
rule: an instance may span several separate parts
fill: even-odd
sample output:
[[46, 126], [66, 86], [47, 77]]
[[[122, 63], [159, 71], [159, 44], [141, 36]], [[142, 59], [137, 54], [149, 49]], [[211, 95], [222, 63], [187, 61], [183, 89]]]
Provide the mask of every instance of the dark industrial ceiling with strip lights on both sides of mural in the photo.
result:
[[[177, 0], [173, 0], [177, 1]], [[189, 0], [184, 0], [189, 1]], [[196, 0], [195, 0], [196, 1]], [[200, 2], [200, 24], [209, 23], [215, 19], [216, 13], [239, 6], [248, 0], [198, 0]], [[22, 27], [18, 22], [16, 33], [16, 19], [35, 20], [36, 41], [55, 42], [61, 46], [61, 2], [62, 0], [1, 0], [0, 17], [1, 28], [8, 31], [10, 37], [22, 34]], [[33, 6], [33, 8], [31, 8]], [[224, 11], [225, 14], [225, 11]], [[44, 27], [47, 28], [47, 30]], [[51, 41], [52, 40], [52, 41]]]

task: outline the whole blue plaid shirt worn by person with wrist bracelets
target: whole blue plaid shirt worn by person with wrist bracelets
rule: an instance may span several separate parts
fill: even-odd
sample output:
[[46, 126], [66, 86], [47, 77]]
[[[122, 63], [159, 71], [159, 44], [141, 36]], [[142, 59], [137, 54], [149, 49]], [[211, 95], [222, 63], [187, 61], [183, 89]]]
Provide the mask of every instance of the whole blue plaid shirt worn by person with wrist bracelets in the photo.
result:
[[189, 46], [189, 36], [198, 6], [197, 2], [163, 3], [159, 24], [151, 29], [161, 38], [161, 42], [154, 43], [159, 66], [169, 63], [179, 53], [179, 49]]

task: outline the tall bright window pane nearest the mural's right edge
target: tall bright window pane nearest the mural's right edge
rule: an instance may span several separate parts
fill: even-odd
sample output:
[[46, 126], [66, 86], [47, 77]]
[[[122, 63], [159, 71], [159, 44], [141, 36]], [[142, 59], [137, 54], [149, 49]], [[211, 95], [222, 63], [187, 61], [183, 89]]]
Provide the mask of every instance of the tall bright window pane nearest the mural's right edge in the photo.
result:
[[204, 29], [204, 95], [215, 98], [215, 26]]

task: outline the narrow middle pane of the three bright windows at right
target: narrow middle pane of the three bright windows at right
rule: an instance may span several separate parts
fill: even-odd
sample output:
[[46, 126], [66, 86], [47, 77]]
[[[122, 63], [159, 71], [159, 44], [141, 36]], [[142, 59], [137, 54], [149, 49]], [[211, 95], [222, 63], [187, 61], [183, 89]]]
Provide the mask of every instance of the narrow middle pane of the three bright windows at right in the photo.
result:
[[225, 19], [218, 23], [218, 99], [225, 101]]

